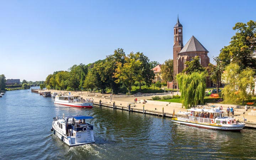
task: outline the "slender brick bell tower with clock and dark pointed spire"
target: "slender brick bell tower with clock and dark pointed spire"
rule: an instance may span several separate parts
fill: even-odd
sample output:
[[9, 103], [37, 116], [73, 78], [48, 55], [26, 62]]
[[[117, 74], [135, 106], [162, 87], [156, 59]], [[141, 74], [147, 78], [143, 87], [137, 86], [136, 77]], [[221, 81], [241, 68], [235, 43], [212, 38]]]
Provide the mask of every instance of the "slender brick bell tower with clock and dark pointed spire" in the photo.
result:
[[182, 25], [179, 21], [177, 20], [176, 25], [174, 26], [174, 46], [173, 46], [173, 59], [174, 59], [174, 79], [177, 74], [177, 58], [178, 58], [178, 53], [181, 51], [183, 48], [183, 36], [182, 36]]

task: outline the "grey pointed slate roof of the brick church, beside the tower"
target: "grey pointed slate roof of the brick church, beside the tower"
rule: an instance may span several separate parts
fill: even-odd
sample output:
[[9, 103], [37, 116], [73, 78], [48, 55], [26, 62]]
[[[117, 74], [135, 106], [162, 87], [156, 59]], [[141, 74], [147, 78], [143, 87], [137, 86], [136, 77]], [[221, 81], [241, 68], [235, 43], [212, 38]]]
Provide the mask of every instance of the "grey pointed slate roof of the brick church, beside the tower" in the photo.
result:
[[181, 49], [180, 53], [184, 52], [196, 52], [203, 51], [209, 52], [204, 46], [196, 39], [196, 37], [192, 36], [190, 40], [186, 43], [186, 45]]

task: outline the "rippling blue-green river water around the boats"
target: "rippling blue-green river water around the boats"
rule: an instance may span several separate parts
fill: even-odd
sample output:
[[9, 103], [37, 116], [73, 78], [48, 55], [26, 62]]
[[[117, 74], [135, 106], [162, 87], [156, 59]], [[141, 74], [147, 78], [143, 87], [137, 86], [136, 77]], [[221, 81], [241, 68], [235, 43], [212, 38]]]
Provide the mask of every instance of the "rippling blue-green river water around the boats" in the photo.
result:
[[[95, 143], [69, 147], [50, 131], [62, 114], [93, 116]], [[0, 98], [0, 159], [256, 159], [256, 130], [208, 130], [112, 108], [54, 105], [30, 90]]]

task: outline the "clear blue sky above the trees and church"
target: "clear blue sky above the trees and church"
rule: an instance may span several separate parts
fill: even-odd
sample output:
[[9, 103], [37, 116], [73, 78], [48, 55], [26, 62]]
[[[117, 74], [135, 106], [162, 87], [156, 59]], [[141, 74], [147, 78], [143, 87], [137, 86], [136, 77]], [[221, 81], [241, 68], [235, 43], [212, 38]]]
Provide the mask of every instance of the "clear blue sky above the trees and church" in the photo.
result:
[[45, 80], [54, 71], [88, 64], [114, 49], [172, 59], [179, 15], [183, 44], [195, 36], [210, 62], [229, 45], [236, 22], [254, 20], [256, 1], [0, 0], [0, 74]]

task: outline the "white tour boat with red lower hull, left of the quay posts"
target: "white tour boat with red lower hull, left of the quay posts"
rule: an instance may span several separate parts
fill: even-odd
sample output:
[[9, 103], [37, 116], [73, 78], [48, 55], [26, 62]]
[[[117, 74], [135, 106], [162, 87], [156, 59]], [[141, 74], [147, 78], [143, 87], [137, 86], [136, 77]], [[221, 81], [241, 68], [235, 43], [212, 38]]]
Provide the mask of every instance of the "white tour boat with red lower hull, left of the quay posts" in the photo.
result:
[[92, 108], [92, 100], [82, 100], [80, 96], [55, 96], [54, 103], [71, 107]]

